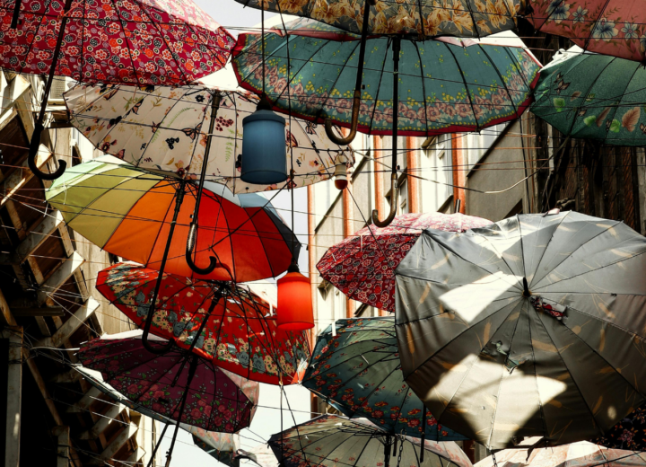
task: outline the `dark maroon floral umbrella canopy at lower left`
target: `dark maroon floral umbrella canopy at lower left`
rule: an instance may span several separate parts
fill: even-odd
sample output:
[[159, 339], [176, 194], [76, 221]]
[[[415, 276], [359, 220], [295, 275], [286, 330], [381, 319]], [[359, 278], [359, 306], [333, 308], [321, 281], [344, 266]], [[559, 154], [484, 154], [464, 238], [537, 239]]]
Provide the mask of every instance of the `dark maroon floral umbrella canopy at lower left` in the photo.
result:
[[[164, 417], [179, 419], [180, 401], [188, 392], [181, 422], [208, 431], [234, 433], [249, 427], [258, 403], [258, 383], [249, 383], [214, 362], [173, 346], [162, 355], [144, 348], [141, 332], [93, 339], [78, 353], [83, 366], [100, 371], [106, 383], [130, 401]], [[162, 340], [159, 338], [153, 338]], [[195, 375], [188, 381], [191, 358]]]

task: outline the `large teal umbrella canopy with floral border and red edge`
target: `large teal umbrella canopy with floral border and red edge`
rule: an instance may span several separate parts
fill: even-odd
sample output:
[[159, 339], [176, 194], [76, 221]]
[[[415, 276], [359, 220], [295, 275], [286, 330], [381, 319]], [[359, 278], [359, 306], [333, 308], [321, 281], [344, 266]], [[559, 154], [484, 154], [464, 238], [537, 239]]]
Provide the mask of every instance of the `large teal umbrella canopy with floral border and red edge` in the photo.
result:
[[[265, 35], [269, 101], [276, 110], [349, 128], [359, 37], [305, 20], [286, 29], [289, 35]], [[260, 37], [240, 34], [233, 51], [238, 81], [254, 93], [263, 92]], [[371, 53], [365, 59], [357, 127], [363, 133], [392, 133], [391, 42], [374, 38], [366, 44]], [[399, 62], [399, 136], [476, 131], [516, 119], [531, 100], [540, 67], [526, 48], [452, 39], [401, 40]]]

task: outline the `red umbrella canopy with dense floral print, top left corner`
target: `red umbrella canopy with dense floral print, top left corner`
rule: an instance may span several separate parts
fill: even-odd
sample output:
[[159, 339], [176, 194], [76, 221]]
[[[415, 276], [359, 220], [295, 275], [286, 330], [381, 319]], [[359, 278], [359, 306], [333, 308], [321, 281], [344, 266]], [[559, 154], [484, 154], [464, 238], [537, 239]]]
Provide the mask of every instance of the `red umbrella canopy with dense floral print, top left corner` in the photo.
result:
[[188, 84], [222, 68], [235, 40], [191, 0], [14, 0], [0, 3], [0, 66], [48, 74], [61, 20], [57, 75], [84, 83]]

